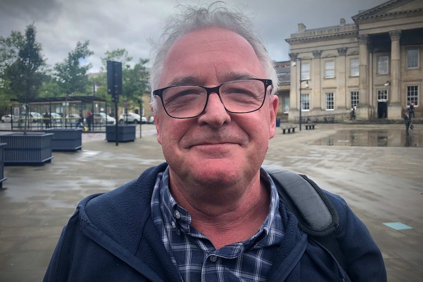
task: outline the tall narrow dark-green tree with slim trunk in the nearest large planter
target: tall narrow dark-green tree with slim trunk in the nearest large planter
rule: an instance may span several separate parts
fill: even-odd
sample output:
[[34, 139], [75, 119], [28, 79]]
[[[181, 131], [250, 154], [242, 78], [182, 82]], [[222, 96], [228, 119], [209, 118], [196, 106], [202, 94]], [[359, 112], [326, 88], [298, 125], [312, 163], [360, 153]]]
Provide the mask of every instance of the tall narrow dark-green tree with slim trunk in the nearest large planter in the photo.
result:
[[19, 47], [18, 59], [6, 69], [9, 89], [16, 99], [25, 105], [24, 134], [26, 134], [29, 103], [37, 98], [44, 78], [41, 67], [45, 62], [41, 55], [41, 44], [36, 42], [35, 34], [34, 24], [26, 26], [25, 43]]

